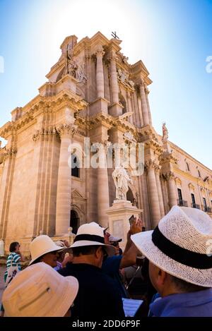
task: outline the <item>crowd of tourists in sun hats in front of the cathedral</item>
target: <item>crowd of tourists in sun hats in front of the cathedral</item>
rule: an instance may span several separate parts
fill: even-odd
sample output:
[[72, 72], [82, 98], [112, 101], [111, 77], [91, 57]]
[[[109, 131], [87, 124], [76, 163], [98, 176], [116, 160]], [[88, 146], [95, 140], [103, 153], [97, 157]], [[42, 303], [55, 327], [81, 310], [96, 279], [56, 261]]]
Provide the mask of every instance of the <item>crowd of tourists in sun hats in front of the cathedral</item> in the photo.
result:
[[11, 243], [2, 315], [123, 319], [122, 299], [138, 298], [142, 288], [148, 316], [212, 317], [211, 218], [174, 206], [154, 230], [142, 226], [131, 222], [124, 251], [122, 238], [95, 222], [81, 225], [70, 247], [37, 236], [22, 271], [20, 245]]

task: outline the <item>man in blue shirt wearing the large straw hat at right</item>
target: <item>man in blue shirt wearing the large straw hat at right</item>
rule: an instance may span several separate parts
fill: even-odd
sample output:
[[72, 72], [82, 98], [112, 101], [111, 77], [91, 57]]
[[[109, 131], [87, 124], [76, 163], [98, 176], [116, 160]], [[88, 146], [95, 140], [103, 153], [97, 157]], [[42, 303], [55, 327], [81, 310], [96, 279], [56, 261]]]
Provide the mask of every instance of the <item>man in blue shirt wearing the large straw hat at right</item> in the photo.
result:
[[155, 317], [212, 317], [212, 222], [205, 212], [174, 206], [154, 231], [131, 236], [149, 260], [151, 282], [161, 299]]

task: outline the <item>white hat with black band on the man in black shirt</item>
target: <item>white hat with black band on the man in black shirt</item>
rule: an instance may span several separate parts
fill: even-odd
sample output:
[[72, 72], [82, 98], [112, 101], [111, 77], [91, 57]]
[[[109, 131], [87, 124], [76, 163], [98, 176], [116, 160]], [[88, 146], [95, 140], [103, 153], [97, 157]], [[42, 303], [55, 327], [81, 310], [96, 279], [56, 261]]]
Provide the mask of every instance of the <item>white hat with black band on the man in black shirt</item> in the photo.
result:
[[83, 224], [78, 228], [71, 248], [81, 246], [104, 246], [109, 256], [115, 253], [113, 246], [105, 245], [104, 229], [95, 222]]

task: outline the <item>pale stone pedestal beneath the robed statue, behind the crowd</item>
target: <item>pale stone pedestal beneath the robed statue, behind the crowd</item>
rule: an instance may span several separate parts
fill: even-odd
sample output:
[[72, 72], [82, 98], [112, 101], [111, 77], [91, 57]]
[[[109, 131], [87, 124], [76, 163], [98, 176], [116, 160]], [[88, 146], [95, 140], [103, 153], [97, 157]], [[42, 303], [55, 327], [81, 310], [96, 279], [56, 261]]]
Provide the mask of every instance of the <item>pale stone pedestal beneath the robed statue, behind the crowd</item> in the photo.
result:
[[114, 200], [112, 207], [106, 210], [109, 218], [110, 234], [122, 238], [119, 246], [124, 249], [127, 241], [127, 232], [129, 231], [129, 217], [141, 217], [143, 210], [133, 206], [128, 200]]

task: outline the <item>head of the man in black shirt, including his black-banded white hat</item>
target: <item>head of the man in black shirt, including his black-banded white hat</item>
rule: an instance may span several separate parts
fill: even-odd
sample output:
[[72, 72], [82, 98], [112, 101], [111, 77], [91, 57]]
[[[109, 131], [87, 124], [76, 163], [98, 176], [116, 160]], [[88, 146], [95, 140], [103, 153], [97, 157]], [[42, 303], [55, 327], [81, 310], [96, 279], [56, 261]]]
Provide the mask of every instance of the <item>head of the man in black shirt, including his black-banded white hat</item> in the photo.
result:
[[105, 243], [104, 229], [92, 222], [79, 227], [73, 245], [73, 263], [102, 266], [105, 255], [114, 255], [115, 249]]

